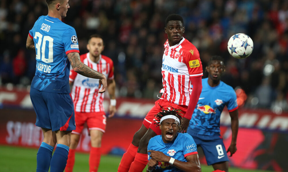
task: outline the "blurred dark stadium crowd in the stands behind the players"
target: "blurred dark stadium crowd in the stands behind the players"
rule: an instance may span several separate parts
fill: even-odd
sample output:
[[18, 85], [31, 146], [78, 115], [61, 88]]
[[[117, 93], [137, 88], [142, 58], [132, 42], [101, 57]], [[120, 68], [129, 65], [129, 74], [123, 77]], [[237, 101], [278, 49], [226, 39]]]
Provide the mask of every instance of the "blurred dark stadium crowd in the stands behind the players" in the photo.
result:
[[[270, 108], [278, 114], [288, 111], [288, 1], [71, 0], [69, 4], [69, 15], [62, 21], [75, 28], [80, 54], [87, 52], [88, 36], [103, 36], [103, 54], [115, 66], [118, 97], [157, 99], [167, 39], [164, 20], [177, 13], [184, 18], [184, 37], [199, 50], [203, 67], [211, 55], [225, 59], [222, 80], [245, 92], [242, 106]], [[47, 10], [43, 0], [1, 0], [2, 86], [29, 87], [36, 60], [25, 42], [36, 19]], [[236, 33], [245, 33], [254, 42], [248, 58], [228, 53], [227, 42]]]

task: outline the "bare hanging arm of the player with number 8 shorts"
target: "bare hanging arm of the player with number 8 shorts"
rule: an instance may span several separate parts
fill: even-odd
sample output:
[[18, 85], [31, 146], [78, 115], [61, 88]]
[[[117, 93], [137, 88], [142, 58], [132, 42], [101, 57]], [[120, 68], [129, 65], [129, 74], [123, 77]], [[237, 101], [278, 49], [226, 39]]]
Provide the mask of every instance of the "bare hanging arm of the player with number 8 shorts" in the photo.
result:
[[238, 109], [229, 112], [231, 117], [231, 130], [232, 130], [232, 140], [229, 148], [227, 149], [227, 153], [230, 152], [230, 157], [236, 152], [236, 140], [239, 128], [239, 121], [238, 121]]

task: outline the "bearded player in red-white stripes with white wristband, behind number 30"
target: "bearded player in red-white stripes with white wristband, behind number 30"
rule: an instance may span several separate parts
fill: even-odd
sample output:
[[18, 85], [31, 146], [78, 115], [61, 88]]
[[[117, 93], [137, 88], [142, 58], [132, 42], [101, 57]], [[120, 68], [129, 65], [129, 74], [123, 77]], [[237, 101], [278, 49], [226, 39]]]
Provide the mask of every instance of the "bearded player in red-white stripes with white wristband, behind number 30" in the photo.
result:
[[[94, 34], [90, 36], [87, 49], [89, 52], [82, 54], [80, 59], [84, 64], [107, 77], [107, 90], [110, 97], [108, 117], [113, 117], [116, 112], [113, 62], [111, 58], [101, 54], [104, 50], [104, 44], [100, 35]], [[74, 100], [76, 130], [73, 130], [71, 134], [71, 146], [65, 172], [73, 171], [75, 149], [85, 122], [91, 136], [89, 171], [96, 172], [101, 158], [101, 139], [106, 129], [106, 116], [103, 107], [104, 94], [98, 93], [98, 90], [101, 89], [98, 87], [98, 79], [78, 75], [73, 70], [70, 71], [69, 84], [72, 87]]]

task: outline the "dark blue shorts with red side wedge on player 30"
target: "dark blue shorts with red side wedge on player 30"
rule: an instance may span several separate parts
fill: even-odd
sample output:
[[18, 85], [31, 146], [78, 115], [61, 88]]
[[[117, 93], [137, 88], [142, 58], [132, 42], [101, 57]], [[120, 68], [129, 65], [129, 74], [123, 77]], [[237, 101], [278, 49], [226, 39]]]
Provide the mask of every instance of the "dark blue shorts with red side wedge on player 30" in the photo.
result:
[[52, 131], [76, 129], [71, 94], [50, 93], [31, 88], [30, 98], [36, 112], [36, 126]]

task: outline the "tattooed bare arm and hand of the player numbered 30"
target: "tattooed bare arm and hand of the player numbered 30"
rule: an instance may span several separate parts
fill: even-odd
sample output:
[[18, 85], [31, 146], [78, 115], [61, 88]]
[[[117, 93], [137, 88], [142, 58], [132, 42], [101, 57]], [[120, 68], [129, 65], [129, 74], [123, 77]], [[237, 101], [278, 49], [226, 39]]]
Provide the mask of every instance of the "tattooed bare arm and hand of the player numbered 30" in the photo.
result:
[[78, 52], [70, 52], [67, 54], [67, 57], [75, 72], [85, 77], [99, 79], [99, 83], [100, 83], [99, 88], [101, 87], [101, 84], [103, 85], [103, 87], [101, 90], [98, 91], [98, 93], [105, 92], [106, 87], [107, 87], [107, 79], [105, 75], [103, 75], [100, 72], [94, 71], [93, 69], [88, 67], [86, 64], [82, 63]]

